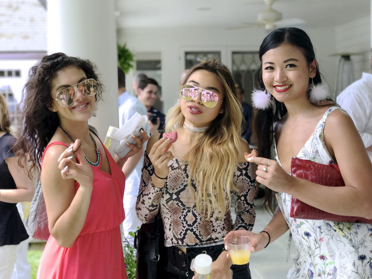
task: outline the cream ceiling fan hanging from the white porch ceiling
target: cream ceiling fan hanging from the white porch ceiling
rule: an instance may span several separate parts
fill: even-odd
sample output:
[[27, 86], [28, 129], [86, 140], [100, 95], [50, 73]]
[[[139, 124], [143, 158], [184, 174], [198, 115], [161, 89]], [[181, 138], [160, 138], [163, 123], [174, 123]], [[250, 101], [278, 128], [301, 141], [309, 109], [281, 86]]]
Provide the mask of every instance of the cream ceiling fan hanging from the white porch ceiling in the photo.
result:
[[282, 13], [272, 8], [275, 0], [263, 0], [267, 9], [257, 15], [257, 23], [242, 22], [244, 26], [231, 27], [227, 30], [250, 28], [250, 27], [264, 27], [267, 30], [274, 29], [278, 26], [289, 26], [305, 23], [304, 20], [299, 18], [282, 19]]

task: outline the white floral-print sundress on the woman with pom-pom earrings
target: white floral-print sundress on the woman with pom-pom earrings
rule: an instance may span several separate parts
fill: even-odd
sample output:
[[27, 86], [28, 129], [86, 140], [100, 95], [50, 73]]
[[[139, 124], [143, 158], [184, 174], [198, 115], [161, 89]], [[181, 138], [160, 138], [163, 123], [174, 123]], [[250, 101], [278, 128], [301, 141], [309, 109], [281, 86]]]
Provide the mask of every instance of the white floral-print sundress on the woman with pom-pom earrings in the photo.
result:
[[[335, 109], [339, 107], [324, 113], [298, 158], [321, 164], [333, 162], [325, 147], [323, 129], [325, 119]], [[271, 156], [280, 164], [275, 135]], [[372, 224], [291, 218], [292, 196], [277, 193], [276, 197], [297, 250], [287, 279], [372, 279]]]

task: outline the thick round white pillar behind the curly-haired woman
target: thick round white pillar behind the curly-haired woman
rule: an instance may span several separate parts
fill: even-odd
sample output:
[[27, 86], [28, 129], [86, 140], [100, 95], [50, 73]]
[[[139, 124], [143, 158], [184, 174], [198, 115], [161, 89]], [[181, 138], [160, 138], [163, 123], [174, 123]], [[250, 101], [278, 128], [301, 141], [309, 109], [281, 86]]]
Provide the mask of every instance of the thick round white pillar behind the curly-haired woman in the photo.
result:
[[114, 0], [48, 0], [48, 54], [63, 52], [97, 65], [105, 91], [89, 123], [105, 139], [119, 127]]

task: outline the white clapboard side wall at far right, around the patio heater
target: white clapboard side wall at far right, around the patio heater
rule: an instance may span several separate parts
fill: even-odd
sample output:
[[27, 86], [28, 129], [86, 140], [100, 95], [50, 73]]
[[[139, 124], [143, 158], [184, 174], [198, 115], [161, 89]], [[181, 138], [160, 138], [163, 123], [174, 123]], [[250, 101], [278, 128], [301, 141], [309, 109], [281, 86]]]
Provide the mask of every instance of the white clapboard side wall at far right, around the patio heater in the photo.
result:
[[360, 53], [352, 55], [354, 65], [354, 77], [358, 80], [362, 72], [371, 71], [371, 17], [337, 26], [335, 28], [335, 46], [337, 53], [351, 52]]

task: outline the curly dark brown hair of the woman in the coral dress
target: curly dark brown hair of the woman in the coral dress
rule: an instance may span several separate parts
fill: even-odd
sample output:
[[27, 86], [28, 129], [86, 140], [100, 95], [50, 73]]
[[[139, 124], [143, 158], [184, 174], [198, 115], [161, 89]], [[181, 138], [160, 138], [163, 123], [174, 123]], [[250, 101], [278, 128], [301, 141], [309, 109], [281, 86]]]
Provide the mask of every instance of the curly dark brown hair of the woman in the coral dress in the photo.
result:
[[29, 176], [32, 170], [41, 168], [44, 149], [60, 123], [58, 114], [49, 110], [52, 105], [52, 81], [59, 71], [68, 66], [80, 68], [87, 78], [94, 78], [97, 81], [96, 101], [102, 99], [103, 86], [96, 73], [96, 66], [89, 60], [58, 52], [44, 56], [31, 68], [29, 80], [23, 87], [25, 128], [14, 146], [21, 166], [22, 160], [29, 155], [32, 162]]

